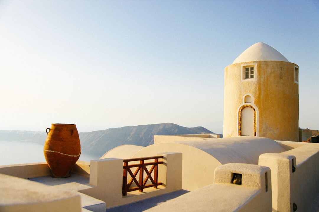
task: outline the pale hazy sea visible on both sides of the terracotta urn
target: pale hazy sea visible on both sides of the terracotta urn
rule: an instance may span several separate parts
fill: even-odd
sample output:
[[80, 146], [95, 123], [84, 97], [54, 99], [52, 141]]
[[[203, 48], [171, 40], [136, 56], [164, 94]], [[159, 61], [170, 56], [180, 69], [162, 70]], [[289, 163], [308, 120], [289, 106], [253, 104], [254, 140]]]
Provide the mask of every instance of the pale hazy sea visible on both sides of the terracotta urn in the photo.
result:
[[[0, 140], [0, 166], [46, 162], [43, 154], [43, 145], [27, 141], [2, 141]], [[98, 156], [84, 154], [79, 160], [90, 162], [99, 159]]]

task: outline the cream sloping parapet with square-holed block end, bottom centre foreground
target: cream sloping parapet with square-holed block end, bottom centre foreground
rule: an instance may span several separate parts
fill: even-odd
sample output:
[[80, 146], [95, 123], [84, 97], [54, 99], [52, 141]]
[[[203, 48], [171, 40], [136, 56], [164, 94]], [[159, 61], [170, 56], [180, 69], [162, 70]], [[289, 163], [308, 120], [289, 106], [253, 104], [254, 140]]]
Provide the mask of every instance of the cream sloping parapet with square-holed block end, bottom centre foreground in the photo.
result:
[[[225, 164], [216, 168], [213, 184], [146, 211], [269, 212], [272, 209], [270, 172], [268, 167], [258, 165]], [[234, 174], [241, 174], [241, 185], [232, 183]]]

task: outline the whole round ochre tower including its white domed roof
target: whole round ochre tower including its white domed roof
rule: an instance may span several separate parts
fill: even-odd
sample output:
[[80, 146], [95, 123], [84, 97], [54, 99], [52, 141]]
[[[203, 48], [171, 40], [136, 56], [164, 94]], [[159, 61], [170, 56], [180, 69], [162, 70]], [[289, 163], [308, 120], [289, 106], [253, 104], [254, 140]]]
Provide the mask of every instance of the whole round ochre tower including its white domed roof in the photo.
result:
[[256, 43], [225, 68], [223, 137], [298, 141], [298, 65]]

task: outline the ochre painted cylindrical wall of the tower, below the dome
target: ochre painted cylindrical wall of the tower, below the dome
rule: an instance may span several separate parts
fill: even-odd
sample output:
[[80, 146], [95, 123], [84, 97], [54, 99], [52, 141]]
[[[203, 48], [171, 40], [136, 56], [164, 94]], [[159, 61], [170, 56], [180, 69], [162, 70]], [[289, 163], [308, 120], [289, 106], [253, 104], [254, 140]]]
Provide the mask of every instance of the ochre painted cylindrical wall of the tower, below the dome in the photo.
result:
[[[242, 65], [255, 64], [255, 79], [242, 80]], [[240, 135], [239, 108], [255, 109], [256, 136], [298, 141], [299, 94], [295, 66], [284, 61], [251, 61], [225, 68], [223, 136]], [[298, 79], [297, 79], [298, 80]], [[244, 96], [252, 96], [245, 103]]]

